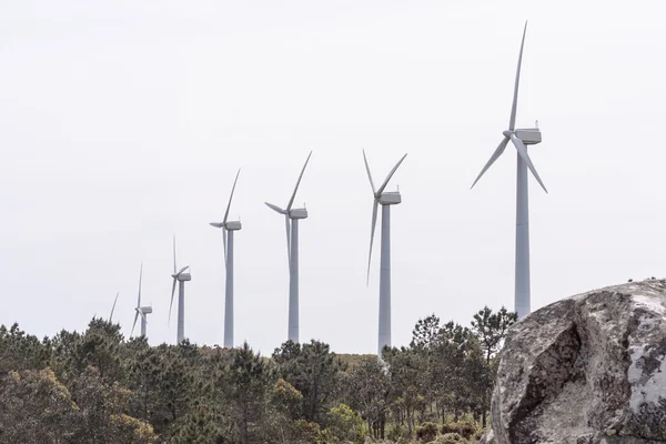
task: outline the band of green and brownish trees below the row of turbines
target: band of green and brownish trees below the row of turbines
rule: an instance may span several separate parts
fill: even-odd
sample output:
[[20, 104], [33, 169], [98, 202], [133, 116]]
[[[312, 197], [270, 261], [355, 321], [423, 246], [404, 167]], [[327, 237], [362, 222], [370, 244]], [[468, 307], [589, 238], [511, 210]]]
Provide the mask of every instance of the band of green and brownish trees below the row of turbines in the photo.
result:
[[408, 347], [351, 360], [317, 341], [271, 357], [150, 346], [93, 319], [39, 340], [0, 326], [1, 443], [465, 442], [486, 423], [514, 313], [420, 320]]

